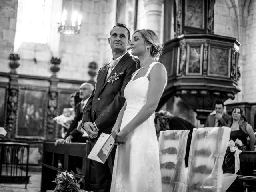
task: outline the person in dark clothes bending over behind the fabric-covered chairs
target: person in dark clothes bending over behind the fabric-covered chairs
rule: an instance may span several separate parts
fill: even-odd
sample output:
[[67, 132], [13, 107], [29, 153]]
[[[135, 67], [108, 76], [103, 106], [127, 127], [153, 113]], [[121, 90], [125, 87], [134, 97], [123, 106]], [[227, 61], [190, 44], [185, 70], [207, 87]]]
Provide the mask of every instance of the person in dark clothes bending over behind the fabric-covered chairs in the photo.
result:
[[167, 111], [160, 110], [155, 113], [155, 126], [156, 126], [156, 135], [159, 136], [160, 131], [165, 130], [189, 130], [187, 147], [186, 147], [186, 155], [185, 155], [185, 165], [188, 166], [188, 155], [191, 144], [191, 137], [193, 133], [193, 129], [195, 126], [188, 122], [185, 119], [180, 117], [174, 117], [171, 113]]

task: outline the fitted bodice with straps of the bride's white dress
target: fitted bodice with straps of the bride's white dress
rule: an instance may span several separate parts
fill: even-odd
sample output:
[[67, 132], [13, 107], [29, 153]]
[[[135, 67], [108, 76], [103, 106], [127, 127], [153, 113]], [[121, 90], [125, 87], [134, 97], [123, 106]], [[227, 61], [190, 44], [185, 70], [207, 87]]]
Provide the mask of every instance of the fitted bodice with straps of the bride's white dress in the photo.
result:
[[142, 106], [146, 104], [147, 98], [148, 98], [148, 85], [149, 85], [148, 75], [150, 73], [150, 70], [156, 63], [157, 62], [152, 62], [152, 64], [150, 64], [145, 76], [139, 77], [134, 80], [134, 77], [140, 70], [138, 69], [133, 74], [130, 82], [126, 85], [126, 88], [124, 89], [124, 97], [127, 103], [126, 111], [128, 110], [130, 112], [132, 111], [138, 112], [138, 110], [140, 110]]

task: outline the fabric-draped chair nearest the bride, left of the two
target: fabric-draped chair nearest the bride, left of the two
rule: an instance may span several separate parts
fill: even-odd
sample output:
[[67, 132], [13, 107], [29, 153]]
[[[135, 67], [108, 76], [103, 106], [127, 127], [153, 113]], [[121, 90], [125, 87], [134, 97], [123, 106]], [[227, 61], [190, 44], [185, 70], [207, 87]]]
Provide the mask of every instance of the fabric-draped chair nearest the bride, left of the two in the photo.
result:
[[163, 192], [182, 191], [188, 134], [189, 130], [160, 131], [158, 144]]

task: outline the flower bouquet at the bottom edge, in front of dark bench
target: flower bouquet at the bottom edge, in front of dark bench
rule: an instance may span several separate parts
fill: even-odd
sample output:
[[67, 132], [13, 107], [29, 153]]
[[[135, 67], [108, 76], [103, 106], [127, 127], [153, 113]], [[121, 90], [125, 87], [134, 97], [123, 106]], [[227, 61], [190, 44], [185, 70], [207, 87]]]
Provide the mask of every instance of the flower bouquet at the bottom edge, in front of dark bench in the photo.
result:
[[80, 182], [76, 180], [76, 176], [74, 176], [74, 172], [62, 172], [57, 175], [57, 177], [52, 181], [56, 183], [56, 187], [54, 188], [54, 192], [87, 192], [80, 189]]

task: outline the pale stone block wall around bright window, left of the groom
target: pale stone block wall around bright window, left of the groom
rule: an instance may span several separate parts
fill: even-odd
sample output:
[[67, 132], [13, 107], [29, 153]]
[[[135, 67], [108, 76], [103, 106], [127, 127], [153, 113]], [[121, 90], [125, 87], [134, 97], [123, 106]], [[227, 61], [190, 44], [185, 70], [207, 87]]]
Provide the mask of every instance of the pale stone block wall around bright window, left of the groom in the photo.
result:
[[[0, 20], [4, 21], [0, 24], [0, 71], [10, 72], [8, 56], [14, 48], [18, 0], [0, 3]], [[64, 7], [65, 0], [62, 5]], [[56, 32], [51, 34], [59, 38], [57, 52], [48, 44], [23, 42], [17, 50], [20, 55], [18, 74], [50, 77], [50, 59], [53, 56], [61, 59], [58, 78], [88, 81], [91, 80], [88, 64], [96, 62], [99, 69], [107, 62], [112, 55], [108, 36], [116, 22], [116, 1], [75, 0], [74, 7], [82, 14], [80, 34], [64, 36], [52, 28]]]

